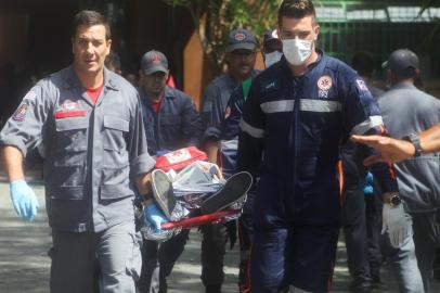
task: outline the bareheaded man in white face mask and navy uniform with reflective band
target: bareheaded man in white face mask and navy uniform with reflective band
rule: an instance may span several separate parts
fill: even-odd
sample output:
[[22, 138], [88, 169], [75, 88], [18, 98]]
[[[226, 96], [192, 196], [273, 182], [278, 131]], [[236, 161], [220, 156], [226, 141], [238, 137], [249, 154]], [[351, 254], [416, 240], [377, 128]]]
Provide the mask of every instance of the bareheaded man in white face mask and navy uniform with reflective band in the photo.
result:
[[[254, 198], [251, 292], [328, 292], [340, 228], [339, 145], [376, 133], [383, 122], [364, 81], [315, 49], [310, 0], [279, 10], [282, 60], [259, 74], [246, 100], [237, 169], [260, 175]], [[373, 167], [385, 192], [384, 224], [401, 245], [411, 220], [386, 164]]]

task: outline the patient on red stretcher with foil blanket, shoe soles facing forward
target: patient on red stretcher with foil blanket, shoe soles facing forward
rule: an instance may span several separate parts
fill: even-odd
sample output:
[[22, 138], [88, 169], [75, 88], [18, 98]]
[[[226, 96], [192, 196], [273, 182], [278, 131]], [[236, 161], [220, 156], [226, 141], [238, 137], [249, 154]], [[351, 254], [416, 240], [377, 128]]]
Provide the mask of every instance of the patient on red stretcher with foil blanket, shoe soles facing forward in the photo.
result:
[[161, 229], [155, 229], [144, 213], [138, 211], [145, 239], [165, 241], [183, 228], [224, 222], [242, 214], [253, 184], [249, 173], [237, 173], [225, 180], [219, 167], [204, 162], [206, 155], [195, 148], [181, 149], [164, 157], [156, 160], [152, 188], [154, 202], [168, 221], [160, 225]]

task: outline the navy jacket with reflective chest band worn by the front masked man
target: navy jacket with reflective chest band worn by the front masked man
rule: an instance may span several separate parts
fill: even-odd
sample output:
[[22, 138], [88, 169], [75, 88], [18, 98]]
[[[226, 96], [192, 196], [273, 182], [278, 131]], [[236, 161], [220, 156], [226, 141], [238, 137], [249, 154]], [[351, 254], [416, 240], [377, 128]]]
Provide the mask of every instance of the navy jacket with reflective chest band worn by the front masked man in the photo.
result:
[[[383, 129], [365, 82], [345, 63], [318, 52], [302, 76], [293, 76], [285, 58], [259, 74], [244, 106], [237, 168], [260, 174], [254, 215], [268, 225], [339, 225], [341, 141]], [[397, 191], [386, 164], [374, 173], [385, 192]]]

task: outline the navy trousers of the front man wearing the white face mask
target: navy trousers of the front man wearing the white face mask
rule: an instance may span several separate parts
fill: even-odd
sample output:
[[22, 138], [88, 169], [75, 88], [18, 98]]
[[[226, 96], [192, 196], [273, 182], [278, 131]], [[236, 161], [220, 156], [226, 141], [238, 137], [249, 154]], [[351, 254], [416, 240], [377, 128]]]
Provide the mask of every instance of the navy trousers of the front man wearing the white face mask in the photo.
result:
[[290, 285], [328, 292], [339, 227], [292, 224], [254, 228], [250, 292], [280, 292]]

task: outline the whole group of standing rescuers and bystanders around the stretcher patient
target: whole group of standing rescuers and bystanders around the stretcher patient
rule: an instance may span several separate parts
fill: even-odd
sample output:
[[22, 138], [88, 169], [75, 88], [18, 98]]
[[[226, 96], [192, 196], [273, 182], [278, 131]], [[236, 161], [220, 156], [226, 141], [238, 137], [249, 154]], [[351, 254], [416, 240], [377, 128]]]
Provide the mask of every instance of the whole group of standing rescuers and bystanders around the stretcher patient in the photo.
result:
[[185, 146], [205, 151], [225, 178], [256, 179], [237, 221], [200, 227], [205, 292], [221, 292], [237, 233], [237, 291], [328, 292], [341, 227], [352, 292], [381, 281], [384, 258], [400, 292], [430, 292], [440, 101], [414, 86], [417, 55], [389, 55], [384, 92], [371, 85], [368, 53], [350, 67], [316, 48], [311, 0], [284, 0], [277, 13], [277, 28], [262, 36], [261, 72], [256, 36], [230, 31], [227, 71], [206, 87], [199, 111], [174, 88], [163, 52], [146, 52], [139, 76], [125, 78], [105, 18], [75, 15], [72, 65], [39, 80], [0, 132], [11, 200], [26, 220], [39, 203], [24, 162], [36, 150], [43, 162], [50, 292], [167, 292], [190, 231], [142, 239], [133, 202], [160, 230], [168, 219], [152, 194], [155, 157]]

